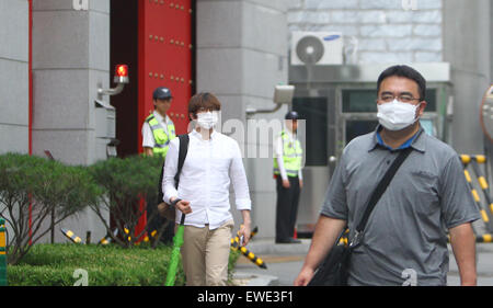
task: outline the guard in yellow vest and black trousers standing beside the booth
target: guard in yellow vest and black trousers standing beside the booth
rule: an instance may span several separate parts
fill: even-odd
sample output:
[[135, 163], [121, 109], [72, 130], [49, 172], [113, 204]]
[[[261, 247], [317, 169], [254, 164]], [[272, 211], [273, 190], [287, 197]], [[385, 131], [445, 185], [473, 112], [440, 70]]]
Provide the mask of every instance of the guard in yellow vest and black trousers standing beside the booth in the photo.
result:
[[290, 111], [285, 116], [286, 129], [274, 145], [274, 178], [276, 179], [276, 242], [299, 243], [294, 239], [299, 194], [303, 185], [301, 164], [303, 150], [297, 139], [299, 115]]

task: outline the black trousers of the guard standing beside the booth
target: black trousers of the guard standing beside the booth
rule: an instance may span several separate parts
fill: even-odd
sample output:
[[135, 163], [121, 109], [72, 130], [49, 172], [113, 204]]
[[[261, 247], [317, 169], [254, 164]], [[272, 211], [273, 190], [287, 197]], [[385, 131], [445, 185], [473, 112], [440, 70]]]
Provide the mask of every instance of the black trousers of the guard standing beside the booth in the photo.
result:
[[300, 194], [299, 178], [288, 176], [288, 179], [289, 189], [285, 189], [280, 175], [276, 178], [276, 241], [289, 240], [295, 235]]

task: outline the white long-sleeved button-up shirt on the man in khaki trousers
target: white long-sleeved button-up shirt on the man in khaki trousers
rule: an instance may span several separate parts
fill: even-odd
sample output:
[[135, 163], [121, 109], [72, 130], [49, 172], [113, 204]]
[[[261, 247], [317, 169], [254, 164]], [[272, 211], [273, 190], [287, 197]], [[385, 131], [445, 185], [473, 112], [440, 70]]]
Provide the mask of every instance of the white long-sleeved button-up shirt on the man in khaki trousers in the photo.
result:
[[[238, 142], [216, 130], [209, 140], [193, 130], [190, 135], [188, 152], [183, 163], [180, 184], [175, 190], [174, 175], [177, 169], [180, 138], [170, 142], [165, 164], [164, 202], [179, 197], [191, 202], [192, 213], [185, 225], [216, 229], [232, 219], [229, 187], [234, 189], [237, 209], [251, 209], [250, 192]], [[182, 213], [176, 210], [176, 223]]]

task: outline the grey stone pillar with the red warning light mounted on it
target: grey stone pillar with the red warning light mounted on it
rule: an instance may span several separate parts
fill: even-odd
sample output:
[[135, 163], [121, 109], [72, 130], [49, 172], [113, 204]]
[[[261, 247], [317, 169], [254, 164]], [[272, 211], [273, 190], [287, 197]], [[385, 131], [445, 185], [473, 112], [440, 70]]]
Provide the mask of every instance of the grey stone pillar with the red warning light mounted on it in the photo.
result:
[[[95, 137], [94, 101], [98, 85], [110, 85], [110, 1], [87, 1], [87, 8], [33, 1], [33, 153], [49, 150], [69, 164], [106, 159], [106, 146]], [[59, 227], [82, 237], [91, 230], [94, 239], [106, 233], [90, 209], [58, 226], [57, 241], [65, 240]]]

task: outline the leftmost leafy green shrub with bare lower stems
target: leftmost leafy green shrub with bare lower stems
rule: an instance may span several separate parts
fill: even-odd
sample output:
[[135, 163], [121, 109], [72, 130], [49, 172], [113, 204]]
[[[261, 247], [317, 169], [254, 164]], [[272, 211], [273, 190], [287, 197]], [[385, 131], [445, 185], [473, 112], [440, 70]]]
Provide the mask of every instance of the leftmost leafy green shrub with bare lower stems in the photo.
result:
[[[55, 225], [94, 203], [101, 192], [82, 167], [34, 156], [0, 156], [0, 216], [12, 230], [8, 262], [15, 264]], [[49, 224], [44, 224], [50, 217]]]

